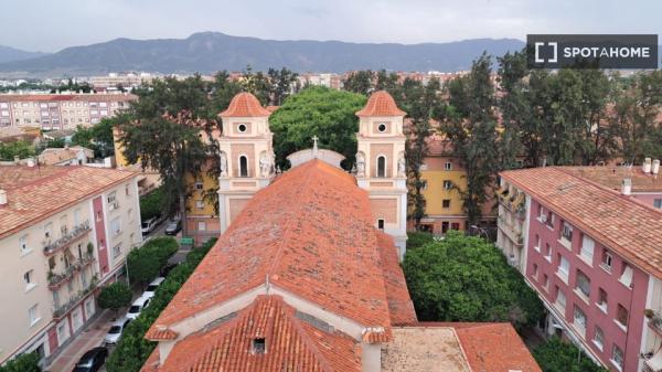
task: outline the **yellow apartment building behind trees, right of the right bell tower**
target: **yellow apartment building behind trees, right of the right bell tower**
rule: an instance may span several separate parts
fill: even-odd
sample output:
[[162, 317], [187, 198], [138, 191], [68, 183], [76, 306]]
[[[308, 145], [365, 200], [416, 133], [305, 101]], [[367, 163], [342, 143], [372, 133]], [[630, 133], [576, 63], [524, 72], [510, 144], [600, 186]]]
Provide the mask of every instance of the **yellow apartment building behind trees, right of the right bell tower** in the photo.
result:
[[[468, 230], [471, 226], [467, 225], [467, 213], [460, 194], [467, 188], [467, 173], [459, 159], [453, 156], [448, 138], [434, 134], [428, 138], [427, 145], [428, 152], [420, 167], [426, 200], [426, 216], [420, 221], [423, 228], [435, 235], [444, 235], [449, 230]], [[493, 202], [483, 205], [481, 225], [493, 224], [496, 219]]]

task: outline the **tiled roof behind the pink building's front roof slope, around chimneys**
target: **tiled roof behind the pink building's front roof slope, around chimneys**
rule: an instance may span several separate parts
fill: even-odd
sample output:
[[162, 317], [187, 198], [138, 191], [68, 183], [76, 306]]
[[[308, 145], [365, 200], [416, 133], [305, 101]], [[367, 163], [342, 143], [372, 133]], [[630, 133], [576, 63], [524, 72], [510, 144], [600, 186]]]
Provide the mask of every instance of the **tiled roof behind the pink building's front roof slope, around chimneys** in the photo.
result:
[[621, 182], [624, 178], [632, 180], [632, 192], [662, 192], [662, 174], [653, 177], [644, 173], [641, 166], [628, 167], [559, 167], [564, 171], [584, 178], [606, 188], [621, 189]]

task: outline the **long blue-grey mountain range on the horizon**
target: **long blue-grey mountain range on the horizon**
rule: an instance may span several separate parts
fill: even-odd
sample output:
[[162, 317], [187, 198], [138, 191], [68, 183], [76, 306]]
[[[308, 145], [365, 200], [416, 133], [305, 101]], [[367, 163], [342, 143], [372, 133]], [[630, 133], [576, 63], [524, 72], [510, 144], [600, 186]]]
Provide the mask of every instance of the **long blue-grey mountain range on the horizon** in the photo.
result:
[[297, 72], [467, 70], [483, 51], [502, 55], [521, 50], [514, 39], [474, 39], [450, 43], [375, 44], [339, 41], [275, 41], [195, 33], [188, 39], [130, 40], [74, 46], [21, 62], [0, 64], [2, 75], [85, 75], [118, 71], [211, 73], [286, 66]]

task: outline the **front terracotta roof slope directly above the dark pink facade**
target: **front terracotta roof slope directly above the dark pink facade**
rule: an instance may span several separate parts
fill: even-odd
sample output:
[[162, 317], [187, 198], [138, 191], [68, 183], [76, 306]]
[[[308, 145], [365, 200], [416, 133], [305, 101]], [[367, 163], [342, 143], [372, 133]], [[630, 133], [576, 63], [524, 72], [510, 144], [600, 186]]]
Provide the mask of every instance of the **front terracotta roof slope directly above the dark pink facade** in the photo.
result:
[[631, 264], [662, 278], [662, 212], [563, 168], [512, 170], [501, 177]]

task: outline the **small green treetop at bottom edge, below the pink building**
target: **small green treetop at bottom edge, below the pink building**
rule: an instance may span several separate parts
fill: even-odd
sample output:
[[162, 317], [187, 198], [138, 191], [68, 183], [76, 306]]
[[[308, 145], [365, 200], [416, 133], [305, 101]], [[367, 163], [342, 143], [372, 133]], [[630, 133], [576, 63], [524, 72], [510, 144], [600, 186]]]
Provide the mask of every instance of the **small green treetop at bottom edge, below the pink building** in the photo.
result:
[[533, 358], [543, 372], [608, 372], [572, 343], [553, 338], [533, 349]]

